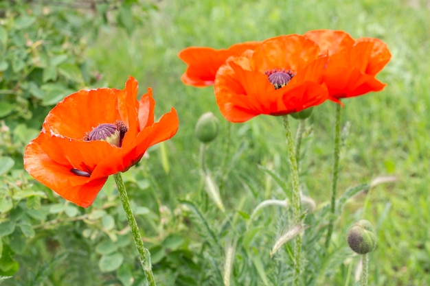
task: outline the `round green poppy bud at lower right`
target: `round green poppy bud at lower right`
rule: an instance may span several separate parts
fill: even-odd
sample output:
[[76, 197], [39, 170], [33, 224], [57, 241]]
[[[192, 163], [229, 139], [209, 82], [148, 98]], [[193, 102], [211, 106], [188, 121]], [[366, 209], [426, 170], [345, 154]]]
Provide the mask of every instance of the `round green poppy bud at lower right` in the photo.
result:
[[375, 230], [368, 220], [361, 219], [348, 230], [348, 245], [358, 254], [372, 252], [376, 246]]

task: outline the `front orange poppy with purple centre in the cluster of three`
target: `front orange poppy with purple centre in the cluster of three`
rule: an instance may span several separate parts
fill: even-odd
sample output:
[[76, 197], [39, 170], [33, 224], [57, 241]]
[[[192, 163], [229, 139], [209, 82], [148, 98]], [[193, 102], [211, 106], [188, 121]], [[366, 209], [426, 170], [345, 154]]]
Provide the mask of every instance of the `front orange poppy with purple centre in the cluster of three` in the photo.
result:
[[215, 79], [216, 102], [231, 122], [257, 115], [287, 115], [328, 99], [322, 84], [327, 57], [299, 35], [269, 38], [229, 58]]

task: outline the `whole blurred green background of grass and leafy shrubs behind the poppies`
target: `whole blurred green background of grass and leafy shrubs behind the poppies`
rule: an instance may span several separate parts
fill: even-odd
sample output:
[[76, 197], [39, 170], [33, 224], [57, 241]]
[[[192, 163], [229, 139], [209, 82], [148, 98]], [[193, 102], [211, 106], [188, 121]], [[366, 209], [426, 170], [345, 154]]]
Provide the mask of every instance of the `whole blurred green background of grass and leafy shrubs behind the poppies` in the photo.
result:
[[[82, 209], [32, 181], [22, 165], [25, 145], [56, 102], [80, 88], [123, 88], [128, 75], [139, 81], [139, 94], [153, 88], [156, 117], [174, 106], [180, 119], [176, 136], [151, 148], [148, 158], [124, 174], [159, 285], [222, 285], [216, 269], [223, 269], [223, 258], [207, 257], [205, 245], [211, 243], [205, 243], [205, 231], [196, 227], [192, 211], [179, 199], [201, 206], [223, 240], [240, 237], [231, 285], [266, 283], [256, 260], [246, 262], [252, 256], [241, 252], [242, 244], [262, 257], [270, 270], [269, 285], [283, 285], [274, 282], [276, 271], [269, 259], [282, 230], [275, 217], [282, 213], [271, 209], [253, 222], [263, 233], [258, 239], [247, 238], [240, 226], [256, 204], [284, 196], [260, 167], [288, 179], [281, 119], [261, 116], [231, 126], [228, 179], [221, 188], [229, 215], [220, 214], [202, 192], [194, 126], [203, 112], [212, 111], [220, 119], [220, 134], [206, 156], [221, 184], [229, 123], [220, 115], [212, 87], [182, 84], [185, 64], [177, 53], [192, 45], [225, 48], [310, 29], [381, 38], [392, 52], [378, 75], [388, 84], [385, 90], [344, 100], [342, 121], [348, 136], [341, 153], [339, 193], [381, 176], [395, 176], [396, 182], [374, 187], [346, 204], [336, 225], [335, 246], [345, 248], [348, 226], [368, 219], [378, 237], [370, 285], [428, 285], [430, 2], [422, 0], [3, 0], [0, 270], [3, 276], [13, 275], [3, 285], [144, 285], [111, 180], [95, 204]], [[317, 206], [324, 206], [330, 196], [334, 110], [329, 102], [315, 108], [304, 140], [301, 181]], [[293, 122], [293, 130], [296, 126]], [[231, 225], [236, 228], [226, 235]], [[324, 272], [315, 284], [353, 285], [350, 276], [357, 262], [357, 257], [340, 259], [332, 273]]]

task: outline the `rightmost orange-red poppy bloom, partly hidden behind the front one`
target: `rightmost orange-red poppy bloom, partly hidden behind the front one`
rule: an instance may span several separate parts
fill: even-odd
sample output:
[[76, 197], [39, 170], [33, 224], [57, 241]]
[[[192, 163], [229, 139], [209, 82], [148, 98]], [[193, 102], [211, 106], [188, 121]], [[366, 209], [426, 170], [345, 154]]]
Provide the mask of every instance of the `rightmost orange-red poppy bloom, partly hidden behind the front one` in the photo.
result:
[[315, 41], [321, 53], [330, 56], [324, 82], [332, 97], [354, 97], [381, 91], [386, 86], [375, 78], [391, 58], [382, 40], [354, 40], [346, 32], [329, 29], [309, 31], [304, 36]]

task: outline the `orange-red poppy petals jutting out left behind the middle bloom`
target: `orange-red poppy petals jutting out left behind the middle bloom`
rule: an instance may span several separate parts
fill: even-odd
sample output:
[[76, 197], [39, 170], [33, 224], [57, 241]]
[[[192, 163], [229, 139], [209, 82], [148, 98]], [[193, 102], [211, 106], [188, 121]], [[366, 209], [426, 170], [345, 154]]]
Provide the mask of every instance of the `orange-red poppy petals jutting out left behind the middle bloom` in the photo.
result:
[[188, 64], [181, 80], [184, 84], [196, 87], [214, 84], [216, 71], [230, 56], [238, 56], [247, 49], [253, 49], [259, 42], [245, 42], [232, 45], [228, 49], [212, 49], [211, 47], [188, 47], [179, 52], [178, 56]]

